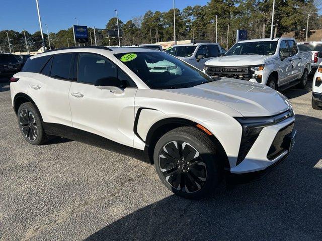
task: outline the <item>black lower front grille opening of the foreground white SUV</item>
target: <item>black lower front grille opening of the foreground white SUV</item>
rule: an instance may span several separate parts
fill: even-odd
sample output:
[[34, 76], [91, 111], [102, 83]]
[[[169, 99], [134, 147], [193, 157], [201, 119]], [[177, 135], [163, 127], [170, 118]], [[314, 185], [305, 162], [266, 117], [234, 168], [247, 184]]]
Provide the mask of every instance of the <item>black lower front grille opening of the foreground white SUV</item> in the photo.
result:
[[275, 136], [274, 141], [268, 151], [267, 158], [268, 160], [274, 160], [279, 155], [281, 155], [285, 150], [288, 149], [289, 144], [286, 143], [286, 137], [290, 135], [293, 131], [294, 123], [281, 129]]

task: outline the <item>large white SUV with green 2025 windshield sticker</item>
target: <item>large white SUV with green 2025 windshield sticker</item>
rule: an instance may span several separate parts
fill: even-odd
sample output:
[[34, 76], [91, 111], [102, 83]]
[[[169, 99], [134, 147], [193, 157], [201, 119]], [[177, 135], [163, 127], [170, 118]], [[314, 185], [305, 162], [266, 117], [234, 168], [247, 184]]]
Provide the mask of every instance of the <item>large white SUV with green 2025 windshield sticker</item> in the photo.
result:
[[[177, 70], [148, 67], [164, 61]], [[134, 149], [187, 198], [208, 193], [223, 174], [231, 182], [262, 177], [294, 144], [295, 115], [284, 95], [258, 83], [212, 79], [156, 50], [46, 52], [30, 57], [10, 85], [30, 144], [82, 136]]]

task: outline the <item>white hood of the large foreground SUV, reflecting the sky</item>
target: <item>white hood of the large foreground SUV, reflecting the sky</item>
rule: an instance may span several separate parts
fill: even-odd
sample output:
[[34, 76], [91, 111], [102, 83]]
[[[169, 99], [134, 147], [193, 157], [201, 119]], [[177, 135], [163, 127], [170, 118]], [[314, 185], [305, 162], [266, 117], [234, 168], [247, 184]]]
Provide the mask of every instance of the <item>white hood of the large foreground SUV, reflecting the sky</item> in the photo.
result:
[[220, 102], [243, 116], [271, 116], [289, 108], [288, 99], [266, 85], [230, 78], [217, 79], [191, 88], [165, 91]]

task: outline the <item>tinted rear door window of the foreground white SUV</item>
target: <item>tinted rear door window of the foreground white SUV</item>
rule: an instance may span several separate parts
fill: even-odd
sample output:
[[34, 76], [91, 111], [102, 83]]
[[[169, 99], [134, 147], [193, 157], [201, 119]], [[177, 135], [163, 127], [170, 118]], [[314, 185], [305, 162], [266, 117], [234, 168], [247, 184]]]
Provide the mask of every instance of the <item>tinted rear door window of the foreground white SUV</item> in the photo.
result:
[[72, 54], [54, 55], [50, 76], [59, 79], [69, 79], [69, 70]]

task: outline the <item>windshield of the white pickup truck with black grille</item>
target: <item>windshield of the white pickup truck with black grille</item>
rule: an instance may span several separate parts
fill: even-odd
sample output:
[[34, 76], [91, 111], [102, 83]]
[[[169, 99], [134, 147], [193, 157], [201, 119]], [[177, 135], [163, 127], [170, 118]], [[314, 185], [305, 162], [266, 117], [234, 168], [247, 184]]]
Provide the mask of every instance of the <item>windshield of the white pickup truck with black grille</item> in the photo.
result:
[[276, 51], [277, 41], [240, 42], [234, 44], [226, 53], [227, 55], [273, 55]]

